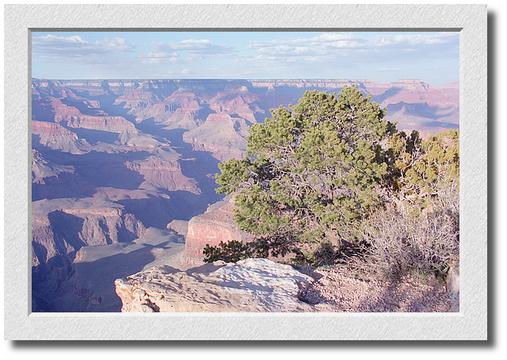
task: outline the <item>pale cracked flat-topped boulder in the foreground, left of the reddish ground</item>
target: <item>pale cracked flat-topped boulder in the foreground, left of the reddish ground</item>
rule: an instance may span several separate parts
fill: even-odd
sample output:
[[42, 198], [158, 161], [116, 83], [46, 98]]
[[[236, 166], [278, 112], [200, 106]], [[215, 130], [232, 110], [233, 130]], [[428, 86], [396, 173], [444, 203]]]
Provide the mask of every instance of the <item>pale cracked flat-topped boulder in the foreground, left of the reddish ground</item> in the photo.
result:
[[122, 312], [313, 311], [299, 300], [312, 278], [289, 265], [247, 259], [185, 272], [153, 267], [115, 281]]

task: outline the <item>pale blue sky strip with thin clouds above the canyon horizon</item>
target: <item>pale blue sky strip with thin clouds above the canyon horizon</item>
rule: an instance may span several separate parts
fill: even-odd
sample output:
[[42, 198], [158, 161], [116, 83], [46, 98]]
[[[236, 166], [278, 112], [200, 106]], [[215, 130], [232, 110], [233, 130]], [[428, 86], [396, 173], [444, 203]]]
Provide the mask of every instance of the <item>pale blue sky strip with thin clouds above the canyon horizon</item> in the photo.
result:
[[450, 32], [34, 32], [46, 79], [459, 78]]

